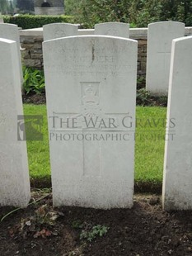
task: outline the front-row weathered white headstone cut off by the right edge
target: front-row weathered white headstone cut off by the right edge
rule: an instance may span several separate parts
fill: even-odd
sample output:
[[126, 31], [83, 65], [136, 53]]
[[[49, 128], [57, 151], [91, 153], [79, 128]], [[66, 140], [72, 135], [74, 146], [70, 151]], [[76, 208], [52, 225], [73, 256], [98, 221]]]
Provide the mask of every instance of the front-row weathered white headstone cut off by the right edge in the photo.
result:
[[166, 129], [162, 192], [166, 210], [192, 210], [191, 59], [192, 36], [173, 40], [167, 110], [172, 122]]

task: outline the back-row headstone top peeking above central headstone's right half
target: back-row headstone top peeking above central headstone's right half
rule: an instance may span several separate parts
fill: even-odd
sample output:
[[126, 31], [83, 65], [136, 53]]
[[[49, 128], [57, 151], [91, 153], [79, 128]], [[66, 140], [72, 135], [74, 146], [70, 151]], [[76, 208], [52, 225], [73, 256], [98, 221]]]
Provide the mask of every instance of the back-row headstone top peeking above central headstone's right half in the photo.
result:
[[106, 22], [96, 24], [95, 35], [129, 38], [129, 24], [121, 22]]

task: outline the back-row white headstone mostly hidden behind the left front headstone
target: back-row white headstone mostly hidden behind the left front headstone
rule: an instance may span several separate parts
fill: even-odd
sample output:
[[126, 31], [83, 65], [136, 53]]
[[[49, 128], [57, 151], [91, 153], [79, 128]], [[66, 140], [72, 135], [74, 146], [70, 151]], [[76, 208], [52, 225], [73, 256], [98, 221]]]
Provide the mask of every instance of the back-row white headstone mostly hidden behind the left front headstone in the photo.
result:
[[2, 23], [0, 24], [0, 38], [5, 38], [8, 40], [16, 41], [17, 45], [17, 54], [19, 56], [20, 63], [20, 80], [21, 80], [21, 89], [23, 87], [23, 72], [22, 72], [22, 63], [21, 63], [21, 50], [20, 50], [20, 36], [17, 25]]

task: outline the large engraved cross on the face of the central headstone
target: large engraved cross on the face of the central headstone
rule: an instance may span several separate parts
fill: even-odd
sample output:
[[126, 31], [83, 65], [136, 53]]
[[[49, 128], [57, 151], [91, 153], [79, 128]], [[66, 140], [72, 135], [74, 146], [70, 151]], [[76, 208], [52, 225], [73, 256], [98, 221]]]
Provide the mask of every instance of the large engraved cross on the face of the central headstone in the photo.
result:
[[[109, 117], [113, 118], [113, 121], [118, 124], [120, 116], [127, 116], [129, 113], [105, 113], [100, 105], [100, 83], [98, 82], [82, 82], [82, 112], [81, 113], [59, 113], [54, 112], [53, 116], [62, 116], [63, 119], [73, 119], [75, 118], [77, 121], [77, 127], [79, 128], [70, 128], [70, 129], [56, 129], [55, 132], [73, 132], [73, 134], [82, 134], [84, 136], [87, 134], [92, 135], [96, 138], [99, 138], [101, 134], [111, 132], [124, 132], [125, 129], [109, 129], [109, 127], [105, 127], [105, 123], [109, 121]], [[93, 120], [87, 127], [87, 120]], [[101, 125], [101, 120], [104, 123]], [[81, 127], [79, 122], [84, 123]], [[111, 128], [111, 127], [110, 127]], [[82, 152], [83, 152], [83, 176], [101, 178], [101, 154], [102, 154], [102, 141], [101, 140], [82, 140]], [[90, 154], [90, 151], [92, 154]]]

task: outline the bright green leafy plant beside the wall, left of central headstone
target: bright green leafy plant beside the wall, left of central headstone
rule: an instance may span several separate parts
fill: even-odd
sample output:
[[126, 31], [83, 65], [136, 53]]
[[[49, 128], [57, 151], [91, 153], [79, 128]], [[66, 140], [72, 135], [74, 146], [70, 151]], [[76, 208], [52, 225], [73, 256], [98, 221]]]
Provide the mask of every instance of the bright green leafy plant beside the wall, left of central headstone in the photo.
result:
[[23, 68], [23, 88], [26, 94], [29, 93], [43, 93], [44, 72], [38, 69]]

